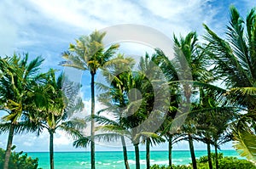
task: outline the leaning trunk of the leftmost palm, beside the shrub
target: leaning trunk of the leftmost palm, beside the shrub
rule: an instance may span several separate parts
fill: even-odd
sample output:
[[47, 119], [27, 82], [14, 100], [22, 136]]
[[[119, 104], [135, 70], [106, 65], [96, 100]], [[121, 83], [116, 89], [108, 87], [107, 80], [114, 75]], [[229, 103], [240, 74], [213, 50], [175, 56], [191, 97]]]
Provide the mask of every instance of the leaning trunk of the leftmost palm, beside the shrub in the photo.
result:
[[11, 149], [13, 145], [14, 134], [15, 134], [15, 124], [12, 123], [11, 126], [9, 127], [9, 137], [8, 137], [6, 151], [5, 151], [3, 169], [9, 169], [9, 157], [10, 157]]

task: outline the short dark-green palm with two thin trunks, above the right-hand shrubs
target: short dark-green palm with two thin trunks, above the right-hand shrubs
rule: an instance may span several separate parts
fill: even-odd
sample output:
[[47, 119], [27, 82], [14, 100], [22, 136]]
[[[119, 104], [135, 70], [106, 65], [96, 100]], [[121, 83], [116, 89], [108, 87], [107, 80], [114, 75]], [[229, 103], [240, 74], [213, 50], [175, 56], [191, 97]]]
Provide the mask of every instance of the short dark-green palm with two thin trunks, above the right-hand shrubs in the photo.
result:
[[219, 104], [217, 99], [212, 91], [201, 89], [199, 103], [191, 112], [196, 121], [199, 140], [207, 144], [209, 168], [212, 168], [211, 144], [215, 147], [215, 164], [218, 168], [218, 145], [231, 140], [228, 126], [236, 119], [236, 107]]

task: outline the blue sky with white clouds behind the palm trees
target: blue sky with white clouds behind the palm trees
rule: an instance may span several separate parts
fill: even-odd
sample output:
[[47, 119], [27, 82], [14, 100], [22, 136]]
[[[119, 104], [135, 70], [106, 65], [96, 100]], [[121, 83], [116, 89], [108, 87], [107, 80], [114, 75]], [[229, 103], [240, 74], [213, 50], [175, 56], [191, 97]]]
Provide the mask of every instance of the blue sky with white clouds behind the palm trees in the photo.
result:
[[[61, 53], [67, 51], [70, 42], [92, 31], [104, 30], [113, 25], [143, 25], [160, 31], [172, 39], [172, 35], [185, 36], [197, 31], [199, 38], [205, 33], [202, 24], [207, 24], [218, 35], [224, 37], [228, 24], [229, 7], [233, 4], [245, 17], [254, 0], [2, 0], [0, 2], [0, 56], [29, 53], [31, 59], [44, 58], [42, 71], [59, 65]], [[138, 42], [121, 42], [120, 53], [141, 56], [153, 48]], [[69, 72], [72, 70], [68, 70]], [[90, 112], [90, 76], [74, 71], [73, 77], [83, 83], [83, 115]], [[100, 76], [97, 80], [101, 80]], [[96, 102], [96, 110], [102, 104]], [[1, 115], [1, 112], [0, 112]], [[5, 149], [7, 134], [0, 135], [0, 147]], [[28, 133], [15, 135], [16, 150], [48, 151], [49, 134], [44, 131], [39, 137]], [[65, 132], [55, 133], [55, 151], [73, 151], [73, 140]], [[222, 149], [231, 149], [225, 144]], [[132, 146], [129, 147], [132, 150]], [[143, 149], [143, 147], [142, 147]], [[167, 149], [161, 144], [154, 149]], [[174, 149], [189, 149], [186, 142]], [[195, 149], [206, 149], [205, 144], [195, 143]], [[86, 148], [85, 150], [89, 150]], [[96, 150], [121, 150], [120, 144], [96, 143]]]

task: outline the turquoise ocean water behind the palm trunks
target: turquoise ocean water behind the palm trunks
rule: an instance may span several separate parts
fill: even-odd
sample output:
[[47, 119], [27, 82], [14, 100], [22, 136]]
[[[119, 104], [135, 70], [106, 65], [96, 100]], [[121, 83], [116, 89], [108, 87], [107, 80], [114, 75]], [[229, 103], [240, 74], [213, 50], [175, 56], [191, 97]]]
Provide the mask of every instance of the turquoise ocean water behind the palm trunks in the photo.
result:
[[[219, 151], [225, 156], [239, 155], [235, 150]], [[39, 167], [49, 169], [49, 153], [48, 152], [30, 152], [27, 153], [32, 158], [38, 157]], [[146, 168], [145, 155], [146, 152], [140, 152], [141, 168]], [[199, 158], [202, 155], [207, 155], [206, 150], [196, 150], [195, 155]], [[151, 151], [151, 165], [168, 164], [168, 151]], [[128, 159], [131, 169], [135, 168], [135, 154], [133, 151], [128, 152]], [[189, 150], [173, 150], [173, 164], [189, 164], [191, 161]], [[90, 168], [90, 152], [55, 152], [55, 169], [84, 169]], [[97, 169], [124, 169], [123, 152], [122, 151], [102, 151], [96, 152], [96, 168]]]

